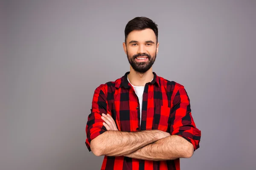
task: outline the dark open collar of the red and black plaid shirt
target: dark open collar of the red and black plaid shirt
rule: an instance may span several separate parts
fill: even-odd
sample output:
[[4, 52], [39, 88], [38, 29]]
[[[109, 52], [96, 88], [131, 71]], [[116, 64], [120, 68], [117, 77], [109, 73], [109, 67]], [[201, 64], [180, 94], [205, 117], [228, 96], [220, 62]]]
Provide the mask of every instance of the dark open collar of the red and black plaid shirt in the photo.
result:
[[[129, 73], [130, 73], [130, 71], [126, 72], [123, 77], [118, 79], [119, 81], [116, 81], [116, 85], [115, 85], [116, 88], [121, 88], [122, 86], [124, 88], [130, 88], [131, 87], [131, 85], [129, 84], [128, 79], [127, 79], [127, 75]], [[160, 87], [159, 78], [158, 78], [157, 74], [155, 72], [153, 72], [153, 74], [154, 74], [154, 78], [150, 83], [151, 84], [156, 84], [156, 85], [158, 85], [158, 87]]]

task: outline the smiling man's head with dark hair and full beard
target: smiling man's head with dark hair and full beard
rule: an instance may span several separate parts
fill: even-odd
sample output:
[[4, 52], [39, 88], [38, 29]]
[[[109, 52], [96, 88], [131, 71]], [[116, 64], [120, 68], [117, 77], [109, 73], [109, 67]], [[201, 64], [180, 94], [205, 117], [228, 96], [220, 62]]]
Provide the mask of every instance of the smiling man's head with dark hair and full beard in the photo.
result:
[[152, 67], [158, 52], [158, 28], [147, 17], [135, 17], [125, 27], [123, 48], [131, 67], [145, 73]]

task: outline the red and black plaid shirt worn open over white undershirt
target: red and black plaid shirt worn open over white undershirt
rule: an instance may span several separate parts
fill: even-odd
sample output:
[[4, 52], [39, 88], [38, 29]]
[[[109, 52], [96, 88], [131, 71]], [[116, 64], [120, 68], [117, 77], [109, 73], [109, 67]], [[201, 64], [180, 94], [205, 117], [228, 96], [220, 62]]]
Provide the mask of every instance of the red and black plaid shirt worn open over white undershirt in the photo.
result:
[[[119, 131], [162, 130], [178, 135], [191, 142], [194, 150], [199, 148], [201, 131], [195, 126], [191, 115], [189, 97], [183, 85], [154, 74], [154, 79], [145, 84], [142, 116], [140, 103], [134, 88], [123, 77], [96, 88], [92, 109], [86, 125], [86, 146], [106, 128], [101, 113], [110, 113]], [[148, 161], [126, 156], [105, 156], [101, 170], [180, 170], [180, 159]]]

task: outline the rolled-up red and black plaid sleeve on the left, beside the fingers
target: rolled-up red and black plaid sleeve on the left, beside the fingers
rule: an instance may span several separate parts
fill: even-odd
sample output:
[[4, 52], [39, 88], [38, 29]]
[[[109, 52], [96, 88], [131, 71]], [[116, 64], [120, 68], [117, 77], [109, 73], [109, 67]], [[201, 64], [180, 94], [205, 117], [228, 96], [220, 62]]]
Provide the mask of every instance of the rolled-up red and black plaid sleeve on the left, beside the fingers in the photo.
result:
[[93, 102], [92, 102], [92, 108], [91, 112], [88, 116], [87, 125], [85, 128], [87, 139], [85, 141], [85, 144], [89, 150], [90, 148], [90, 142], [95, 139], [100, 134], [107, 131], [105, 126], [103, 125], [103, 120], [101, 118], [102, 113], [107, 114], [108, 110], [108, 104], [107, 104], [107, 98], [102, 90], [103, 85], [100, 85], [93, 94]]

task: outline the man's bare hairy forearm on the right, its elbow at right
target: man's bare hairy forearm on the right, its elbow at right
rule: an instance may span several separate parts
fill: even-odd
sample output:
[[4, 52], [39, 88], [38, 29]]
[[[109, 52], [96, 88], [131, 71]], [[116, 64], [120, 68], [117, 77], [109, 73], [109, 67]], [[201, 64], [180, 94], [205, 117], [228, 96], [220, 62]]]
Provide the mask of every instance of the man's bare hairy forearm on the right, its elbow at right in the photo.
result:
[[190, 142], [180, 136], [172, 135], [124, 156], [136, 159], [162, 161], [189, 158], [192, 156], [193, 151], [194, 147]]

